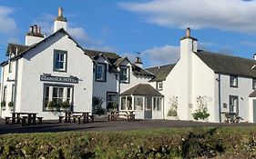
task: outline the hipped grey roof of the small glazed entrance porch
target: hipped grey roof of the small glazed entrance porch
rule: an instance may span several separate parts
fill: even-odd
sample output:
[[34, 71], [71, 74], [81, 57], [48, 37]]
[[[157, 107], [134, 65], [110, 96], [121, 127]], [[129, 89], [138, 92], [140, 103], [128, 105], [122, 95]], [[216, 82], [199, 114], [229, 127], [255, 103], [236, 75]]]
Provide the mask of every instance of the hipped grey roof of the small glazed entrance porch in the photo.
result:
[[153, 88], [150, 84], [137, 84], [132, 88], [128, 89], [121, 95], [146, 95], [146, 96], [163, 96], [158, 90]]

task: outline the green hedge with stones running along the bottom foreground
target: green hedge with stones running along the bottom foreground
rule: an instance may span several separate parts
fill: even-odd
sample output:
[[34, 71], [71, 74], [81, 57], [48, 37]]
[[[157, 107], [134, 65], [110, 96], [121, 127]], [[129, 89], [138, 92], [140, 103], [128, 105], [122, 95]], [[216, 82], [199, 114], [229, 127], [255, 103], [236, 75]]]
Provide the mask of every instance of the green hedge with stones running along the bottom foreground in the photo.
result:
[[255, 158], [256, 127], [0, 135], [1, 158]]

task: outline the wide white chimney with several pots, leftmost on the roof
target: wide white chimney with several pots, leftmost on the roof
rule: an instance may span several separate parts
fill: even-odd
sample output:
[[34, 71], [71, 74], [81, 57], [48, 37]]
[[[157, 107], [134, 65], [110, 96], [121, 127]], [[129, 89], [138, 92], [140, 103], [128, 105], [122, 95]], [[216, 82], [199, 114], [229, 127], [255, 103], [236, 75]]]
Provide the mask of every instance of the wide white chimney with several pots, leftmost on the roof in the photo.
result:
[[26, 34], [25, 45], [34, 45], [45, 38], [44, 35], [41, 34], [41, 28], [38, 25], [29, 26], [29, 31]]

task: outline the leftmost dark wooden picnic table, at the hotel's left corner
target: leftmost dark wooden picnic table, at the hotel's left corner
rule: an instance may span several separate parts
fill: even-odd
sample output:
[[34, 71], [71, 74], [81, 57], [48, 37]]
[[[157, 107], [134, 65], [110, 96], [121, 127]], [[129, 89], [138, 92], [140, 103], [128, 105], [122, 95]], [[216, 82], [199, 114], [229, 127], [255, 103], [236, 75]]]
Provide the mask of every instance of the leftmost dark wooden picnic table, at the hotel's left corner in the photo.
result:
[[31, 112], [15, 112], [12, 113], [12, 124], [20, 124], [20, 120], [22, 118], [21, 115], [27, 115], [27, 124], [36, 124], [36, 114]]

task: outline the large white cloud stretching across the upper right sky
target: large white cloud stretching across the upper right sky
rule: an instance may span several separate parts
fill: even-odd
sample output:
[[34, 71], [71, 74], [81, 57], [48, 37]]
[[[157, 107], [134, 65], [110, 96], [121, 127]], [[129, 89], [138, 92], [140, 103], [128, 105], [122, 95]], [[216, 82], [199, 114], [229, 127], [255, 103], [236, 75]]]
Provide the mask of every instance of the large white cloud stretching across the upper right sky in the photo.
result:
[[148, 23], [172, 28], [217, 28], [256, 33], [256, 1], [149, 0], [120, 3]]

